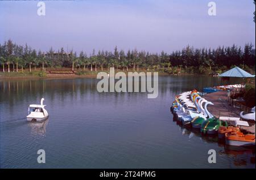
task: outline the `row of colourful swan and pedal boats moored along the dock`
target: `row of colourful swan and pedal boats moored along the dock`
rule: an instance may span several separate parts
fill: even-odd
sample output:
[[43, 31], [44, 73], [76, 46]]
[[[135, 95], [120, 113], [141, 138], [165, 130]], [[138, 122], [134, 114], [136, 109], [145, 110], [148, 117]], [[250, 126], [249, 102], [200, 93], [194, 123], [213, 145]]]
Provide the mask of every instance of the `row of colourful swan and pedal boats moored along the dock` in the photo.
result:
[[[172, 103], [171, 112], [174, 119], [183, 125], [200, 129], [203, 135], [217, 135], [228, 145], [250, 146], [255, 145], [255, 135], [241, 131], [240, 127], [249, 126], [249, 123], [235, 117], [220, 117], [212, 115], [208, 106], [214, 105], [204, 99], [197, 90], [187, 91], [176, 95]], [[253, 118], [255, 121], [255, 107], [251, 113], [244, 114], [243, 117]]]

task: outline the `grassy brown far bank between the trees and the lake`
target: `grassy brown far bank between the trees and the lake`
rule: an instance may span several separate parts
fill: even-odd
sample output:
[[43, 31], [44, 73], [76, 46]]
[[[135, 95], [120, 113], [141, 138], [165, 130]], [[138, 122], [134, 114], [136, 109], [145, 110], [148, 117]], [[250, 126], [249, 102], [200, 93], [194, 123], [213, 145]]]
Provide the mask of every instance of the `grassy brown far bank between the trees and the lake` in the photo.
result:
[[[16, 69], [15, 69], [16, 70]], [[128, 72], [158, 72], [159, 76], [180, 76], [180, 75], [193, 75], [193, 74], [201, 74], [201, 75], [210, 75], [214, 73], [223, 73], [228, 69], [221, 69], [221, 70], [205, 70], [201, 72], [200, 70], [195, 70], [195, 68], [177, 68], [177, 67], [170, 67], [170, 68], [159, 68], [159, 69], [135, 69], [133, 71], [132, 68], [129, 69]], [[252, 74], [255, 74], [254, 68], [246, 67], [245, 70]], [[13, 78], [76, 78], [76, 77], [96, 77], [99, 72], [106, 72], [109, 73], [108, 69], [74, 69], [71, 68], [47, 68], [45, 70], [40, 69], [32, 69], [31, 72], [29, 69], [21, 69], [11, 72], [0, 72], [0, 79], [13, 79]], [[127, 70], [123, 69], [115, 69], [115, 73], [117, 72], [124, 72], [127, 75]]]

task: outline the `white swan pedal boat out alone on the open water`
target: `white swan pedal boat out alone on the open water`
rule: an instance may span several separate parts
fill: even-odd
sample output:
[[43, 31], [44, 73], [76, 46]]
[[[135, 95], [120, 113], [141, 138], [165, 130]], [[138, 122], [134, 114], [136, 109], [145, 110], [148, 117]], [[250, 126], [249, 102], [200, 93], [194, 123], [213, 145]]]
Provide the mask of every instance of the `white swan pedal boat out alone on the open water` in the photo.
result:
[[44, 98], [41, 99], [41, 104], [30, 104], [28, 107], [28, 121], [37, 121], [41, 122], [48, 118], [48, 112], [44, 108], [46, 105], [43, 105]]

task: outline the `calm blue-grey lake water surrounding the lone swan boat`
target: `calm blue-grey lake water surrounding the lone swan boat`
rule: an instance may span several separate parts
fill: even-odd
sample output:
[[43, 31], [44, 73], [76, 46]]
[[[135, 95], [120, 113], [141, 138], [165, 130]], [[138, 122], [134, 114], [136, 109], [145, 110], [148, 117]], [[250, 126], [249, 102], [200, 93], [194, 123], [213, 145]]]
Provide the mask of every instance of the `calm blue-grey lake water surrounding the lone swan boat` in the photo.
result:
[[[230, 79], [230, 83], [240, 82]], [[170, 106], [193, 88], [228, 84], [218, 77], [159, 77], [147, 93], [98, 93], [94, 78], [0, 81], [1, 168], [255, 168], [255, 150], [180, 127]], [[27, 107], [44, 104], [49, 119], [28, 123]], [[37, 151], [46, 151], [38, 164]], [[208, 163], [208, 150], [217, 163]]]

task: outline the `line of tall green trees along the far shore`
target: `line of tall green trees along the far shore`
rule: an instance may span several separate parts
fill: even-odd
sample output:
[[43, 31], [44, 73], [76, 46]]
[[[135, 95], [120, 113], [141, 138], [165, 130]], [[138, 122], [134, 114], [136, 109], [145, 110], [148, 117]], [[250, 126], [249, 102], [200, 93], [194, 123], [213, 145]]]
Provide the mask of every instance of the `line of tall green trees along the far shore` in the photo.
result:
[[5, 41], [0, 44], [0, 64], [2, 71], [10, 72], [18, 69], [29, 68], [79, 68], [79, 70], [95, 70], [97, 68], [114, 67], [119, 70], [172, 70], [172, 69], [192, 69], [195, 72], [217, 70], [219, 68], [228, 69], [234, 65], [255, 66], [255, 49], [252, 44], [245, 44], [243, 48], [237, 45], [232, 47], [193, 48], [189, 45], [181, 51], [167, 53], [150, 53], [137, 51], [137, 49], [114, 51], [93, 51], [90, 55], [86, 52], [76, 51], [65, 52], [64, 48], [54, 51], [52, 48], [47, 52], [36, 51], [27, 44], [18, 45], [13, 41]]

